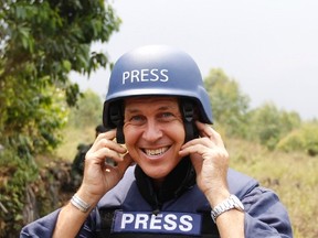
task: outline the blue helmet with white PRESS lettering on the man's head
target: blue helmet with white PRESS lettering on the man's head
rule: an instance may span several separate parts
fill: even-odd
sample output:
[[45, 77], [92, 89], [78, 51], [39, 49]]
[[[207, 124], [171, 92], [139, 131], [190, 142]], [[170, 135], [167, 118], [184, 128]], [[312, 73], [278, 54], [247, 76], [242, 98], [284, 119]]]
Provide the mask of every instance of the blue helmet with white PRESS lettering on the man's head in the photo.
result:
[[188, 116], [193, 111], [199, 113], [195, 119], [205, 123], [213, 121], [198, 65], [190, 55], [172, 46], [142, 46], [124, 54], [115, 63], [104, 102], [106, 128], [118, 130], [124, 123], [123, 99], [134, 96], [176, 96], [182, 98], [181, 104], [189, 102], [182, 109], [186, 121], [192, 120], [193, 115]]

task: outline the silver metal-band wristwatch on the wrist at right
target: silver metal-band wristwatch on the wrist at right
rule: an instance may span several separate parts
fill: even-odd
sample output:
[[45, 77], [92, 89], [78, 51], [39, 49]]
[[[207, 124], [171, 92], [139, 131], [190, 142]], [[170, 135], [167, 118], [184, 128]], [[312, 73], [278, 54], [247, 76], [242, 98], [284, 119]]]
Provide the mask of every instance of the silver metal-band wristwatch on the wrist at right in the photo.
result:
[[242, 204], [242, 202], [233, 194], [230, 195], [229, 198], [226, 198], [225, 201], [223, 201], [222, 203], [218, 204], [212, 210], [211, 210], [211, 217], [213, 219], [214, 223], [216, 223], [216, 218], [230, 210], [230, 209], [237, 209], [243, 212], [244, 210], [244, 205]]

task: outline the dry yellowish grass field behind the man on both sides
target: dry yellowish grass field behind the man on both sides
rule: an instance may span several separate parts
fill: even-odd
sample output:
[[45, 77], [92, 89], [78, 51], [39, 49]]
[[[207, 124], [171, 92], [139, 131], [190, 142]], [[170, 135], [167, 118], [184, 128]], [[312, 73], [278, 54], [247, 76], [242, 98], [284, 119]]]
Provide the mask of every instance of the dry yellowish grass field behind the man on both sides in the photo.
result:
[[[63, 160], [72, 161], [78, 143], [92, 143], [93, 127], [81, 131], [66, 129], [65, 141], [57, 150]], [[318, 158], [305, 153], [268, 151], [257, 143], [226, 139], [231, 155], [231, 167], [259, 181], [261, 185], [274, 190], [286, 206], [293, 224], [295, 238], [318, 237]]]

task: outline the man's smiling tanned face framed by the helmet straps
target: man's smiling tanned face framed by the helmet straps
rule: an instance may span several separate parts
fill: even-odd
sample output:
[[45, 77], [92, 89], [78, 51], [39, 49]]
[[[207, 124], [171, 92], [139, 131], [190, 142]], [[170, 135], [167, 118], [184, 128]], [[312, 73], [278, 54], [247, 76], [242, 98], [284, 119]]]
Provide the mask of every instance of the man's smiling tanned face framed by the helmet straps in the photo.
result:
[[174, 97], [139, 97], [125, 100], [124, 134], [129, 154], [142, 171], [163, 180], [180, 162], [184, 128]]

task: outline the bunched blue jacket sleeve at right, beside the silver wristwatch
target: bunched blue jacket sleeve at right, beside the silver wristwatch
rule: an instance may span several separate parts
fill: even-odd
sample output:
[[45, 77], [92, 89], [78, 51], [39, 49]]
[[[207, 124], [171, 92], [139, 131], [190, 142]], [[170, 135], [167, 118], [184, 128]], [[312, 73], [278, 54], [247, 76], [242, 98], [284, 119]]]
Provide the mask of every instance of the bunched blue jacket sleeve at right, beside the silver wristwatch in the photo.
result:
[[286, 208], [271, 190], [255, 187], [242, 199], [245, 206], [245, 237], [293, 237]]

